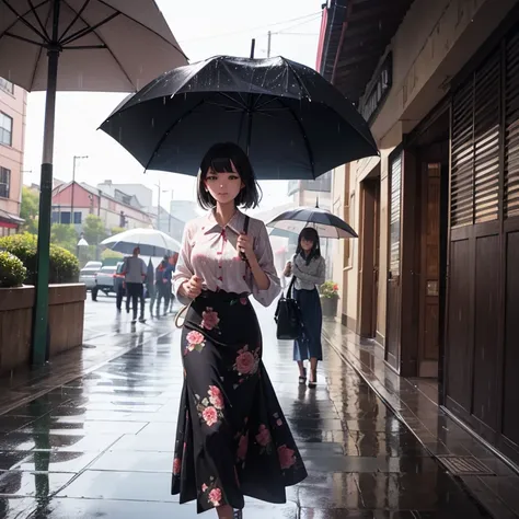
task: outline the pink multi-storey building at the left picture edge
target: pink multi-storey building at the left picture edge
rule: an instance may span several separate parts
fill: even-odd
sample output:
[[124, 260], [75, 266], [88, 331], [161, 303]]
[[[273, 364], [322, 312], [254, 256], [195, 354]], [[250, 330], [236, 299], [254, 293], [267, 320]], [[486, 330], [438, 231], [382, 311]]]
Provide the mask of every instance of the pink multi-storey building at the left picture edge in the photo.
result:
[[0, 78], [0, 237], [18, 231], [27, 93]]

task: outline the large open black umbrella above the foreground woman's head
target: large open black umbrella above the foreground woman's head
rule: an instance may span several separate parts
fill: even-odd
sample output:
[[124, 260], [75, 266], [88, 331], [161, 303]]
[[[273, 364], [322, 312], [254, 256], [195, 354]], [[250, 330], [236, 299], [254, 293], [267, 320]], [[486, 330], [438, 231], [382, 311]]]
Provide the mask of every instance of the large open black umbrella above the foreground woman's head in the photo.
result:
[[353, 104], [285, 58], [218, 56], [160, 76], [101, 129], [143, 166], [196, 175], [216, 142], [237, 142], [261, 180], [315, 178], [378, 153]]

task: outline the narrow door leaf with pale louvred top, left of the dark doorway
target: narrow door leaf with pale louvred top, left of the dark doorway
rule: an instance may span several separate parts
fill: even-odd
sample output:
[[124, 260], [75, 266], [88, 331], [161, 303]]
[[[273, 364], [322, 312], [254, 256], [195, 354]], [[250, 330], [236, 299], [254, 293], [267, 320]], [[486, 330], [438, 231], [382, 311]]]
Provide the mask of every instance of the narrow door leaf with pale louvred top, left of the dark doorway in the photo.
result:
[[385, 360], [400, 371], [402, 336], [402, 152], [390, 161]]

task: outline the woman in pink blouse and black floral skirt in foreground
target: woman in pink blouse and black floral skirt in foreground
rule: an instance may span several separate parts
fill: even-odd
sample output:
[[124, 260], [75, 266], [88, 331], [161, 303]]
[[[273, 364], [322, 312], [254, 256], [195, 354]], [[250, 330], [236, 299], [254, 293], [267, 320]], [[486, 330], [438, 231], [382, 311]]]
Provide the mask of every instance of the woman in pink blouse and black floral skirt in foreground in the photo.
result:
[[285, 503], [285, 487], [307, 476], [249, 300], [268, 307], [280, 291], [264, 223], [239, 210], [258, 198], [242, 149], [214, 146], [198, 174], [198, 201], [209, 212], [187, 223], [174, 274], [174, 292], [189, 308], [172, 493], [196, 499], [198, 514], [216, 508], [220, 519], [241, 518], [244, 495]]

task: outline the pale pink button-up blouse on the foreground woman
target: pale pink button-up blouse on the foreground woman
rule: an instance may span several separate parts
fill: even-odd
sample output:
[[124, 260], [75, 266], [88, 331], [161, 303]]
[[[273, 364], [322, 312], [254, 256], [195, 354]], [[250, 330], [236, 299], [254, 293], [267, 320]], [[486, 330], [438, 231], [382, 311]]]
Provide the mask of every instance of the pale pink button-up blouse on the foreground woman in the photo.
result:
[[281, 288], [265, 223], [250, 218], [247, 234], [253, 239], [260, 266], [270, 281], [266, 290], [257, 288], [251, 269], [239, 255], [237, 241], [244, 224], [245, 215], [241, 211], [237, 211], [224, 228], [217, 222], [214, 211], [187, 222], [173, 275], [174, 291], [182, 303], [188, 304], [191, 300], [180, 296], [178, 289], [193, 275], [203, 279], [207, 290], [252, 293], [264, 307], [276, 299]]

